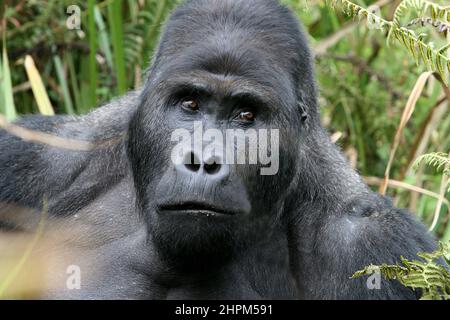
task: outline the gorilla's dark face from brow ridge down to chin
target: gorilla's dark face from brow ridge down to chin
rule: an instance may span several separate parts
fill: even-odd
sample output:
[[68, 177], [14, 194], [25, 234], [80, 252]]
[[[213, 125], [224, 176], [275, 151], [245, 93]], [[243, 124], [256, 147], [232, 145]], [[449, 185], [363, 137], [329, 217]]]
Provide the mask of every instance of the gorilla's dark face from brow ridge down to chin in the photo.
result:
[[[141, 154], [136, 157], [145, 159], [146, 153], [159, 154], [158, 159], [151, 158], [143, 164], [153, 168], [151, 172], [136, 168], [146, 181], [140, 200], [155, 244], [164, 255], [181, 261], [183, 268], [186, 263], [204, 264], [202, 257], [211, 261], [212, 256], [217, 259], [232, 255], [234, 249], [257, 241], [277, 225], [278, 208], [284, 200], [275, 193], [282, 174], [264, 177], [260, 165], [220, 163], [208, 167], [204, 163], [207, 159], [203, 159], [198, 168], [175, 166], [170, 159], [171, 148], [154, 149], [157, 141], [170, 146], [171, 133], [176, 129], [193, 132], [194, 121], [201, 122], [204, 130], [213, 128], [224, 134], [226, 129], [278, 128], [272, 120], [275, 114], [283, 112], [280, 105], [273, 103], [277, 96], [262, 96], [266, 102], [253, 94], [265, 92], [262, 85], [248, 85], [246, 78], [231, 74], [189, 69], [190, 73], [181, 71], [161, 79], [160, 87], [164, 89], [158, 91], [158, 97], [145, 97], [135, 118], [139, 121], [135, 126], [144, 136], [147, 121], [158, 119], [160, 123], [157, 134], [153, 132], [149, 139], [139, 138], [145, 145], [140, 143]], [[179, 84], [180, 79], [186, 82]], [[245, 100], [241, 99], [244, 94]], [[155, 106], [154, 101], [160, 105]], [[185, 109], [183, 104], [191, 101], [195, 101], [198, 110]], [[239, 117], [248, 110], [255, 116], [252, 121]], [[289, 152], [292, 150], [281, 150], [280, 158], [292, 158]], [[281, 170], [286, 165], [283, 161]]]

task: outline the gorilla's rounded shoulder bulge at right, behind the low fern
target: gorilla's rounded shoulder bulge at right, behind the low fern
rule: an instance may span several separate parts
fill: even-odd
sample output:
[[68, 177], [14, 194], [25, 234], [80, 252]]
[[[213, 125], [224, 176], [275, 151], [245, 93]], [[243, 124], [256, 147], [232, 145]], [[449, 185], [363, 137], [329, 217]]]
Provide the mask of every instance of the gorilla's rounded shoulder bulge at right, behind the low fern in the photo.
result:
[[[367, 278], [351, 279], [358, 270], [373, 264], [400, 263], [401, 256], [417, 259], [418, 252], [436, 249], [425, 226], [390, 199], [372, 193], [355, 197], [322, 218], [316, 232], [301, 236], [294, 269], [303, 298], [308, 299], [416, 299], [413, 290], [396, 281], [381, 279], [377, 290], [367, 288]], [[300, 243], [301, 242], [301, 243]], [[306, 257], [314, 259], [306, 261]], [[320, 270], [317, 272], [315, 270]], [[311, 276], [315, 273], [314, 276]]]

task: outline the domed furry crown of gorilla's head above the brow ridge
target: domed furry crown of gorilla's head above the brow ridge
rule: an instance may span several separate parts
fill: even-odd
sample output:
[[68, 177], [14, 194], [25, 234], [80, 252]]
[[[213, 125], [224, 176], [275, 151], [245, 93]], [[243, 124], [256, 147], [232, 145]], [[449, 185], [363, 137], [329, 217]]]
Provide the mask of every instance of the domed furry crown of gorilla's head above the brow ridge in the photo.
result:
[[177, 58], [179, 66], [195, 61], [215, 73], [285, 74], [294, 83], [300, 70], [312, 70], [297, 19], [274, 0], [187, 1], [167, 23], [153, 71]]

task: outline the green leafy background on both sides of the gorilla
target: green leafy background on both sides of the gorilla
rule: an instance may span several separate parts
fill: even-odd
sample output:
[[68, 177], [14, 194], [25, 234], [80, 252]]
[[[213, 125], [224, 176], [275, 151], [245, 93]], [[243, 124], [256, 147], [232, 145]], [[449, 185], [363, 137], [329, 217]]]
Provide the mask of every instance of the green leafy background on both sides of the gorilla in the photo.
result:
[[[140, 87], [161, 26], [178, 2], [0, 1], [0, 114], [5, 116], [0, 120], [27, 113], [85, 114]], [[333, 139], [375, 190], [387, 186], [398, 206], [415, 212], [440, 239], [450, 240], [448, 87], [423, 76], [437, 68], [415, 61], [407, 44], [388, 42], [389, 30], [372, 28], [361, 19], [364, 12], [348, 1], [284, 2], [310, 36], [323, 121]], [[369, 18], [371, 12], [386, 21], [398, 17], [399, 28], [424, 33], [427, 45], [444, 47], [448, 57], [450, 14], [432, 17], [415, 10], [414, 3], [422, 2], [352, 3], [365, 9], [377, 4], [380, 10], [370, 9]], [[434, 3], [446, 5], [445, 0]], [[67, 28], [70, 5], [81, 9], [80, 30]], [[401, 14], [399, 5], [405, 7]], [[436, 21], [441, 24], [434, 26]], [[445, 67], [441, 76], [448, 85]], [[401, 122], [405, 113], [411, 117]], [[422, 164], [416, 162], [424, 154]], [[390, 179], [384, 180], [387, 173]]]

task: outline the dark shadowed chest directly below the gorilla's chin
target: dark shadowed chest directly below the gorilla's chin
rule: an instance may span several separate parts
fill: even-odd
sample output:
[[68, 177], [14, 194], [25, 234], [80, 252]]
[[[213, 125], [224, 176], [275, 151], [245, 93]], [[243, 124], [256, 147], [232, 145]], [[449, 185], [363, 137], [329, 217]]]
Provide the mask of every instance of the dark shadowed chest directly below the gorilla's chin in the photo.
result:
[[[218, 272], [179, 276], [166, 283], [159, 299], [296, 299], [297, 292], [283, 242], [263, 244]], [[157, 280], [158, 281], [158, 280]]]

